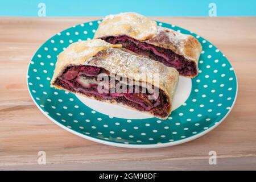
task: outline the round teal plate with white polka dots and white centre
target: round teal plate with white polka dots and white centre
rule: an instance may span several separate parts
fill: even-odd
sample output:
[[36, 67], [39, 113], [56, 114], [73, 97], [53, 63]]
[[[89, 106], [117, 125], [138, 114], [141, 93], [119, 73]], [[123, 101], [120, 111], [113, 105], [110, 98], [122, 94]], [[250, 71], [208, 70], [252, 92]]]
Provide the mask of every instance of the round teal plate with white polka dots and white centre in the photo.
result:
[[93, 38], [101, 20], [82, 23], [47, 40], [30, 61], [28, 90], [36, 106], [65, 130], [95, 142], [119, 147], [173, 146], [201, 137], [229, 114], [237, 96], [232, 65], [212, 43], [183, 28], [158, 22], [199, 40], [203, 51], [196, 78], [180, 77], [168, 119], [158, 119], [117, 105], [56, 90], [49, 84], [57, 55], [69, 44]]

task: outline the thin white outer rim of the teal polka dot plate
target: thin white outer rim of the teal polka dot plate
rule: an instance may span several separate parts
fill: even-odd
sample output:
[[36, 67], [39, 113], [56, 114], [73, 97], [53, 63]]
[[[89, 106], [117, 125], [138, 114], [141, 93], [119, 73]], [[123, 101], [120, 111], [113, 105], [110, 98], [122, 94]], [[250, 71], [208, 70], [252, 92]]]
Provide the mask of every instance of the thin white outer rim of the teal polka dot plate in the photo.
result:
[[[97, 20], [96, 20], [97, 21]], [[159, 22], [159, 21], [158, 21]], [[88, 23], [88, 22], [85, 22], [85, 23]], [[164, 22], [162, 22], [164, 23]], [[169, 23], [167, 23], [169, 24]], [[70, 27], [69, 27], [70, 28]], [[182, 27], [181, 27], [182, 28]], [[68, 28], [67, 28], [68, 29]], [[184, 29], [184, 28], [183, 28]], [[185, 29], [187, 30], [187, 29]], [[47, 42], [48, 40], [46, 40]], [[45, 44], [46, 42], [44, 42], [43, 44]], [[234, 105], [236, 104], [236, 100], [237, 100], [237, 94], [238, 94], [238, 79], [237, 79], [237, 75], [236, 75], [236, 71], [235, 69], [233, 69], [234, 71], [234, 75], [236, 76], [236, 85], [237, 85], [237, 88], [236, 88], [236, 96], [234, 97], [234, 100], [233, 100], [233, 103], [232, 103], [232, 106], [230, 106], [230, 109], [229, 111], [224, 115], [224, 117], [217, 122], [217, 124], [215, 124], [214, 126], [210, 127], [209, 129], [207, 130], [204, 130], [202, 131], [201, 133], [199, 134], [195, 134], [191, 137], [188, 137], [188, 138], [184, 138], [184, 139], [180, 139], [180, 140], [177, 140], [177, 141], [174, 141], [174, 142], [166, 142], [166, 143], [156, 143], [156, 144], [125, 144], [125, 143], [117, 143], [117, 142], [110, 142], [110, 141], [107, 141], [107, 140], [102, 140], [102, 139], [97, 139], [97, 138], [94, 138], [94, 137], [90, 137], [88, 135], [84, 135], [84, 134], [81, 134], [77, 131], [74, 131], [72, 129], [69, 129], [68, 127], [64, 126], [64, 125], [61, 125], [61, 123], [57, 122], [55, 119], [53, 119], [50, 115], [48, 115], [35, 101], [34, 97], [32, 97], [32, 94], [31, 94], [31, 91], [30, 91], [30, 88], [29, 88], [29, 85], [28, 85], [28, 71], [29, 71], [29, 68], [30, 68], [30, 63], [33, 59], [33, 57], [36, 55], [36, 52], [38, 52], [38, 50], [43, 46], [43, 44], [38, 48], [36, 49], [35, 53], [32, 55], [32, 58], [30, 59], [29, 63], [28, 63], [28, 67], [27, 67], [27, 73], [26, 73], [26, 82], [27, 82], [27, 89], [28, 89], [28, 93], [30, 94], [30, 97], [32, 98], [32, 101], [34, 102], [34, 104], [36, 105], [36, 107], [38, 107], [38, 109], [44, 114], [46, 115], [46, 117], [48, 119], [50, 119], [53, 123], [55, 123], [57, 126], [60, 126], [61, 128], [63, 128], [64, 130], [66, 131], [69, 131], [70, 133], [72, 134], [75, 134], [79, 137], [82, 137], [84, 139], [88, 139], [88, 140], [91, 140], [93, 142], [97, 142], [97, 143], [101, 143], [101, 144], [106, 144], [108, 146], [114, 146], [114, 147], [123, 147], [123, 148], [162, 148], [162, 147], [170, 147], [170, 146], [175, 146], [175, 145], [178, 145], [178, 144], [182, 144], [182, 143], [186, 143], [186, 142], [189, 142], [191, 140], [195, 140], [197, 138], [200, 138], [202, 137], [203, 135], [209, 133], [210, 131], [212, 131], [213, 129], [215, 129], [218, 125], [220, 125], [225, 119], [226, 117], [228, 117], [230, 111], [233, 109]], [[229, 59], [227, 59], [229, 61]], [[230, 63], [230, 61], [229, 61]], [[232, 66], [233, 68], [233, 65], [232, 63], [230, 63], [230, 65]]]

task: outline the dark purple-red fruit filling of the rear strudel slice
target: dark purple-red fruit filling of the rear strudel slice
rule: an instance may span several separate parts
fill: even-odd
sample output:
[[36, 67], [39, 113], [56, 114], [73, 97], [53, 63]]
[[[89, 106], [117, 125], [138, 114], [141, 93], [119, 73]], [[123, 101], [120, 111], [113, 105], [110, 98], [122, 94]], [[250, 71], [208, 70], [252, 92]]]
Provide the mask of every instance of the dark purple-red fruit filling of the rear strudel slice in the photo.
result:
[[138, 53], [138, 55], [147, 56], [168, 67], [174, 67], [179, 71], [180, 75], [193, 76], [197, 74], [196, 64], [193, 61], [185, 59], [185, 57], [176, 54], [171, 51], [171, 49], [165, 49], [145, 42], [140, 42], [139, 40], [135, 40], [125, 35], [107, 36], [101, 39], [111, 44], [122, 44], [123, 48]]

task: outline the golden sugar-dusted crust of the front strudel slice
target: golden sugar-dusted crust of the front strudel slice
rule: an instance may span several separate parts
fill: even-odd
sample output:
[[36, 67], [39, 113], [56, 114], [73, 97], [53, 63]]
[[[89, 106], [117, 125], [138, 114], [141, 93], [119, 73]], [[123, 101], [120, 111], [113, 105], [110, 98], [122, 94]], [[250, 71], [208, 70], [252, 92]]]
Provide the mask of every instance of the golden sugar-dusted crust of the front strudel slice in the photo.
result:
[[[179, 80], [179, 73], [175, 68], [166, 67], [164, 64], [159, 63], [158, 61], [147, 59], [146, 57], [136, 55], [135, 53], [130, 53], [126, 49], [114, 48], [111, 46], [111, 44], [103, 48], [88, 47], [89, 44], [94, 45], [93, 41], [97, 42], [98, 40], [90, 40], [90, 43], [73, 43], [61, 53], [61, 55], [58, 57], [55, 73], [52, 77], [52, 86], [57, 89], [64, 89], [61, 86], [56, 85], [55, 80], [56, 77], [59, 76], [67, 66], [92, 65], [95, 67], [104, 68], [110, 73], [114, 73], [118, 76], [127, 77], [134, 81], [144, 82], [148, 85], [157, 86], [166, 94], [167, 102], [171, 106], [172, 98], [174, 97], [177, 82]], [[90, 51], [88, 51], [88, 49]], [[90, 54], [87, 52], [90, 52]], [[141, 76], [142, 74], [144, 74], [145, 77]], [[152, 75], [158, 76], [159, 79], [152, 79]], [[148, 112], [145, 111], [145, 113]], [[168, 110], [168, 114], [170, 113], [171, 108]], [[151, 113], [151, 115], [153, 114]], [[155, 115], [155, 117], [159, 116]]]

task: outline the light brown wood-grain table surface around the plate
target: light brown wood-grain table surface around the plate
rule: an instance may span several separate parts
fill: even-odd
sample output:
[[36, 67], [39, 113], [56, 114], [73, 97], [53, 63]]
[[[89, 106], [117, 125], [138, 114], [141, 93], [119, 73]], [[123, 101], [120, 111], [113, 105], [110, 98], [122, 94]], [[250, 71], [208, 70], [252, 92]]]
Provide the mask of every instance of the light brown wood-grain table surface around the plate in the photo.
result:
[[[28, 63], [57, 32], [94, 18], [0, 17], [0, 169], [256, 169], [256, 18], [152, 18], [196, 32], [220, 48], [238, 77], [237, 102], [213, 131], [156, 149], [106, 146], [51, 122], [31, 100]], [[217, 165], [209, 165], [209, 151]], [[46, 165], [38, 152], [46, 151]]]

